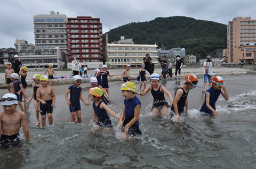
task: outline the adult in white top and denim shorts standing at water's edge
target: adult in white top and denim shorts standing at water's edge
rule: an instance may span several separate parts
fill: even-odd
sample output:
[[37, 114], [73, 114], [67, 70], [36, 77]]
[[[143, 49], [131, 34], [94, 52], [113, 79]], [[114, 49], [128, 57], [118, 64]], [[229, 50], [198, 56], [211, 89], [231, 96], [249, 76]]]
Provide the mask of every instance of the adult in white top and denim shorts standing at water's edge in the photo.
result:
[[213, 74], [213, 67], [215, 66], [215, 64], [212, 62], [211, 56], [207, 56], [206, 57], [206, 61], [204, 62], [204, 84], [203, 84], [203, 90], [204, 91], [204, 87], [206, 85], [207, 82], [207, 78], [209, 81], [209, 88], [211, 88], [211, 83], [212, 83], [212, 74]]

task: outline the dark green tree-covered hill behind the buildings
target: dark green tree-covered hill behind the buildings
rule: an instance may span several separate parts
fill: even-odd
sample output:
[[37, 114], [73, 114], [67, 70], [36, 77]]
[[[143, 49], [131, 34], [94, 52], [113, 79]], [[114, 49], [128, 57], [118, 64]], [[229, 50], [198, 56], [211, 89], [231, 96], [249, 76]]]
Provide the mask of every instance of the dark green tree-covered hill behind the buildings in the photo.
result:
[[219, 51], [227, 48], [227, 26], [225, 24], [196, 20], [186, 16], [156, 18], [149, 22], [132, 22], [111, 29], [103, 35], [106, 45], [106, 34], [109, 43], [120, 40], [121, 36], [133, 38], [134, 44], [158, 44], [158, 48], [171, 49], [181, 47], [186, 54], [206, 57], [217, 56]]

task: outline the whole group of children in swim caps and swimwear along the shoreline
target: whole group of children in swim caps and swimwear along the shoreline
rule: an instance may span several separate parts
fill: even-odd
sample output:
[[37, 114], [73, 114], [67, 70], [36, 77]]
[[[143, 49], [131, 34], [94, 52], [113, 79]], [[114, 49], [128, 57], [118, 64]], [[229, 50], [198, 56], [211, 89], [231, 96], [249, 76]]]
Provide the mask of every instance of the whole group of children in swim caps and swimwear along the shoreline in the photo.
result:
[[[144, 69], [145, 65], [141, 64], [141, 67], [142, 69], [138, 74], [139, 77], [137, 78], [137, 80], [140, 80], [140, 82], [143, 82], [145, 81], [145, 79], [147, 80], [147, 77], [146, 77], [146, 71]], [[24, 73], [21, 75], [23, 77], [25, 76], [25, 78], [26, 78], [26, 72], [25, 72], [26, 70], [27, 69], [25, 66], [23, 67], [23, 69], [21, 69], [21, 71], [23, 71]], [[180, 119], [180, 116], [188, 114], [188, 99], [187, 99], [188, 93], [189, 93], [189, 90], [195, 88], [198, 83], [198, 79], [195, 75], [193, 74], [186, 75], [185, 77], [186, 82], [175, 91], [175, 95], [173, 99], [170, 92], [164, 86], [159, 85], [159, 74], [156, 74], [156, 73], [153, 73], [150, 75], [151, 84], [147, 88], [145, 84], [143, 92], [140, 91], [142, 87], [142, 83], [140, 86], [140, 90], [138, 92], [135, 91], [137, 86], [133, 82], [130, 82], [130, 80], [128, 79], [128, 78], [131, 78], [129, 76], [129, 70], [130, 70], [130, 65], [127, 65], [126, 70], [121, 75], [121, 78], [123, 81], [125, 81], [125, 83], [121, 85], [122, 96], [124, 97], [124, 107], [120, 117], [115, 112], [111, 111], [111, 109], [108, 107], [109, 94], [107, 89], [109, 89], [109, 86], [108, 86], [107, 78], [108, 76], [109, 77], [112, 77], [114, 75], [117, 76], [117, 74], [110, 75], [109, 72], [107, 71], [106, 65], [102, 66], [102, 70], [95, 69], [94, 71], [95, 77], [92, 77], [90, 79], [91, 88], [89, 91], [89, 95], [87, 96], [86, 102], [82, 96], [82, 88], [81, 88], [82, 78], [79, 75], [75, 75], [73, 78], [74, 85], [71, 85], [65, 94], [67, 105], [69, 106], [69, 110], [71, 114], [70, 122], [75, 122], [76, 117], [77, 117], [77, 122], [78, 123], [81, 122], [80, 99], [85, 105], [89, 105], [89, 99], [91, 99], [93, 102], [93, 110], [94, 110], [92, 122], [95, 122], [94, 128], [91, 130], [92, 132], [95, 132], [101, 128], [103, 128], [106, 131], [110, 130], [110, 128], [112, 127], [112, 124], [108, 115], [109, 113], [119, 121], [118, 128], [121, 129], [122, 131], [121, 132], [122, 139], [136, 137], [138, 134], [142, 134], [142, 132], [140, 131], [140, 128], [139, 128], [139, 115], [141, 111], [141, 103], [139, 98], [135, 94], [144, 96], [147, 94], [149, 90], [151, 91], [151, 95], [154, 98], [153, 106], [151, 108], [151, 111], [153, 112], [154, 117], [162, 118], [166, 116], [168, 113], [168, 108], [170, 107], [170, 105], [165, 99], [164, 94], [166, 94], [170, 99], [171, 117]], [[11, 71], [9, 70], [9, 72]], [[6, 75], [6, 77], [8, 76]], [[99, 77], [102, 77], [102, 79]], [[19, 82], [18, 80], [19, 79], [18, 74], [11, 72], [10, 79], [11, 81], [13, 81], [13, 88], [14, 88], [15, 95], [6, 94], [1, 99], [1, 103], [3, 105], [4, 111], [0, 113], [0, 131], [2, 130], [2, 135], [3, 134], [4, 135], [3, 135], [3, 138], [1, 135], [0, 145], [2, 144], [6, 145], [5, 141], [6, 141], [6, 138], [8, 138], [9, 136], [11, 137], [11, 140], [15, 140], [13, 138], [18, 137], [21, 123], [23, 126], [24, 133], [26, 132], [25, 133], [26, 139], [29, 141], [29, 133], [27, 129], [26, 118], [25, 118], [25, 114], [23, 113], [23, 107], [21, 104], [23, 86], [22, 86], [22, 83]], [[54, 93], [54, 89], [51, 86], [48, 86], [49, 77], [47, 75], [42, 75], [40, 77], [39, 74], [34, 74], [33, 80], [35, 82], [33, 84], [33, 94], [30, 99], [28, 98], [27, 99], [30, 102], [31, 99], [33, 99], [34, 97], [34, 105], [35, 105], [36, 117], [37, 117], [37, 123], [35, 125], [39, 124], [39, 110], [41, 113], [42, 126], [44, 127], [46, 125], [45, 124], [46, 114], [49, 119], [49, 124], [52, 125], [52, 122], [53, 122], [52, 111], [55, 104], [55, 93]], [[99, 81], [101, 81], [101, 83]], [[68, 99], [68, 94], [70, 94], [69, 99]], [[106, 95], [107, 98], [104, 96], [104, 94]], [[200, 111], [210, 115], [219, 115], [219, 112], [215, 110], [215, 103], [217, 102], [217, 99], [220, 94], [226, 100], [228, 100], [228, 92], [224, 86], [223, 79], [219, 76], [213, 77], [212, 87], [205, 92], [205, 101]], [[18, 104], [20, 105], [21, 111], [18, 111], [16, 109]], [[186, 107], [186, 110], [184, 109], [184, 107]], [[9, 117], [11, 116], [15, 116], [15, 119], [17, 119], [17, 121], [18, 119], [20, 119], [20, 121], [18, 122], [19, 125], [14, 125], [13, 123], [10, 123]], [[11, 127], [12, 130], [7, 130], [5, 123], [10, 123], [9, 127]], [[11, 142], [15, 142], [15, 141], [11, 141]]]

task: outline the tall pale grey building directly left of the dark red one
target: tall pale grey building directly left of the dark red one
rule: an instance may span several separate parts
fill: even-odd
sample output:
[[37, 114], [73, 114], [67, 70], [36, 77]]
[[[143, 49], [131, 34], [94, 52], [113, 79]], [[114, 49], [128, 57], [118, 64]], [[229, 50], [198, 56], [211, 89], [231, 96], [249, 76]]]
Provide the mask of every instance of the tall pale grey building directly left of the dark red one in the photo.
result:
[[34, 16], [35, 46], [37, 49], [58, 47], [68, 54], [67, 16], [51, 11], [51, 14]]

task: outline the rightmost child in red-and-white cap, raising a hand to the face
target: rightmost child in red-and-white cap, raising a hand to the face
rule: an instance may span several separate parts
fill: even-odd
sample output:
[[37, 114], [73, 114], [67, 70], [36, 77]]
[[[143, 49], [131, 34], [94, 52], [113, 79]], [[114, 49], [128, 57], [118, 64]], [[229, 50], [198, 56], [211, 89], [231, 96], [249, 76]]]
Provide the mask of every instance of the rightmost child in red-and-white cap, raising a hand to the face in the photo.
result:
[[221, 77], [216, 76], [212, 78], [212, 87], [205, 92], [205, 100], [200, 109], [200, 112], [204, 112], [210, 115], [219, 115], [220, 113], [216, 111], [215, 103], [218, 100], [220, 94], [228, 100], [228, 91], [224, 86], [224, 81]]

